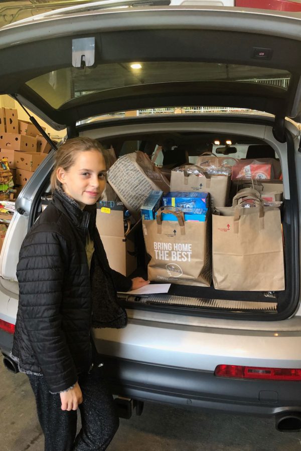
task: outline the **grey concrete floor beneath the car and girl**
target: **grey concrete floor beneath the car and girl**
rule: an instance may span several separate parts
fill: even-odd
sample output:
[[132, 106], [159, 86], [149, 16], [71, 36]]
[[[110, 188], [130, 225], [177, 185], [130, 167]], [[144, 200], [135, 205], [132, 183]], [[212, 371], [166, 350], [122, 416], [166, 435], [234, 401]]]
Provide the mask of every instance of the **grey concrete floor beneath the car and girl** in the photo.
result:
[[[43, 451], [43, 434], [27, 376], [0, 361], [0, 449]], [[121, 419], [108, 451], [301, 451], [301, 433], [281, 433], [273, 419], [196, 413], [145, 403], [141, 416]]]

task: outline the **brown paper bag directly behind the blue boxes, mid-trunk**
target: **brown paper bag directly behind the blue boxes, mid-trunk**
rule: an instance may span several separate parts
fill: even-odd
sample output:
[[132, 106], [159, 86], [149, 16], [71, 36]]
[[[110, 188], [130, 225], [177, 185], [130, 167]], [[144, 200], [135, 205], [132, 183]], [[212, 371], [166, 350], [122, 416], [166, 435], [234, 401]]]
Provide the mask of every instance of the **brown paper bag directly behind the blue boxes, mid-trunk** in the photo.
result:
[[[201, 176], [187, 173], [187, 168], [196, 168]], [[181, 166], [182, 171], [172, 170], [171, 191], [205, 191], [210, 193], [211, 206], [225, 206], [229, 197], [230, 175], [211, 175], [201, 166]]]

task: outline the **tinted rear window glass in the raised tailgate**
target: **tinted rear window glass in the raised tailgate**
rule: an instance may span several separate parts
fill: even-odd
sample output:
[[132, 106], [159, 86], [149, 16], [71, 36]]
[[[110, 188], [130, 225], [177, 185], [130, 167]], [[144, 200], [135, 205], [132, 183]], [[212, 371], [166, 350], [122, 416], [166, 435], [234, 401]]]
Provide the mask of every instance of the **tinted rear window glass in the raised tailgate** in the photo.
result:
[[290, 73], [280, 69], [202, 62], [124, 62], [49, 72], [27, 82], [53, 108], [91, 93], [172, 82], [259, 83], [287, 90]]

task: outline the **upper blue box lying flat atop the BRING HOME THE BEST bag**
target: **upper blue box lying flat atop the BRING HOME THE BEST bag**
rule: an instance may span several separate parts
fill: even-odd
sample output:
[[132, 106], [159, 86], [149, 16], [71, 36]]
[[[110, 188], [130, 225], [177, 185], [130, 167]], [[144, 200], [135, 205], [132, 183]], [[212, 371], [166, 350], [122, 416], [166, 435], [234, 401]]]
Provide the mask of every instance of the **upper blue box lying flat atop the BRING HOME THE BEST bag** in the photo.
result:
[[163, 196], [162, 204], [163, 206], [172, 205], [181, 209], [208, 208], [209, 193], [171, 191]]

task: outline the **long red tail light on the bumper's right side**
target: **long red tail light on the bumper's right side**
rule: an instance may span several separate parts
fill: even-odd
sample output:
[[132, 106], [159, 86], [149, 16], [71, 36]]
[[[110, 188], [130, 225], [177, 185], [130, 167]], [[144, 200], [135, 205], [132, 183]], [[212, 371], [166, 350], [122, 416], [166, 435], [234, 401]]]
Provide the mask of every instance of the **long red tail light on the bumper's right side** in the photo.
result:
[[301, 380], [301, 368], [217, 365], [214, 375], [239, 379]]

